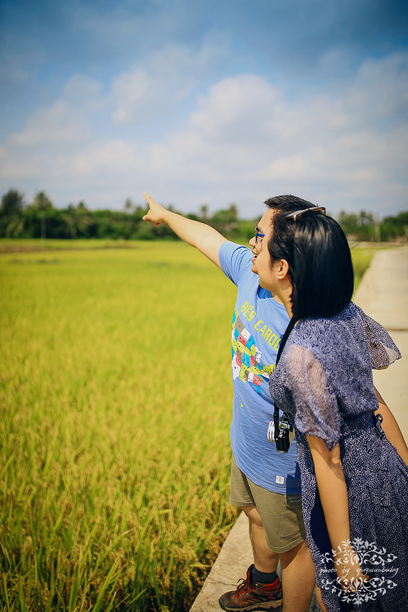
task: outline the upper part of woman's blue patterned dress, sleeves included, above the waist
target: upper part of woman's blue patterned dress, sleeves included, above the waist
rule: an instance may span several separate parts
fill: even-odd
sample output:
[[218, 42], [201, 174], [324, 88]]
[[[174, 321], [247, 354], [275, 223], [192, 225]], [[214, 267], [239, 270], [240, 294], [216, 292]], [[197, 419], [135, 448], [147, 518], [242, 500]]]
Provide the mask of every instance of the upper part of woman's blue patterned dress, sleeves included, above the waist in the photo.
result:
[[297, 324], [270, 379], [271, 395], [299, 431], [333, 448], [353, 417], [378, 408], [372, 368], [400, 357], [386, 330], [350, 302], [339, 315]]

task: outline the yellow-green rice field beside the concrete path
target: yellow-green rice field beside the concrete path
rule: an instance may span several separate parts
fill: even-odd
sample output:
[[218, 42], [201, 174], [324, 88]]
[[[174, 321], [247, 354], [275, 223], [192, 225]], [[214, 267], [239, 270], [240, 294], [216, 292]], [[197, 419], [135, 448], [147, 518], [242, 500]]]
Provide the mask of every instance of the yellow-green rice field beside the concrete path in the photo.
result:
[[236, 289], [181, 242], [77, 242], [0, 255], [0, 608], [188, 610], [237, 516]]

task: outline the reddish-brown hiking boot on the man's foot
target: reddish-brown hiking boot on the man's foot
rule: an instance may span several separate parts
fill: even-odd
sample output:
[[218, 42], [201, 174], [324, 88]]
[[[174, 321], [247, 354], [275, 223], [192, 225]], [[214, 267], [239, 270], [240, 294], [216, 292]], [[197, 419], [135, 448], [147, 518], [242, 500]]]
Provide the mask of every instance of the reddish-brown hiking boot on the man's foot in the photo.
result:
[[252, 570], [254, 565], [250, 565], [246, 572], [246, 579], [241, 578], [242, 582], [236, 591], [224, 593], [219, 598], [218, 603], [222, 610], [235, 612], [237, 610], [271, 610], [282, 605], [282, 584], [279, 576], [272, 584], [262, 584], [255, 582], [251, 584]]

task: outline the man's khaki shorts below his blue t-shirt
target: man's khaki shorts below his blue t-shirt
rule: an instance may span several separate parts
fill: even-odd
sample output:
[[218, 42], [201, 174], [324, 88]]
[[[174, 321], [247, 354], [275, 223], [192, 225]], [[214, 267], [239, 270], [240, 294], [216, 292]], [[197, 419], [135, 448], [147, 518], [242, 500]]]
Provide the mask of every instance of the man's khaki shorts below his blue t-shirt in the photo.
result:
[[255, 485], [236, 465], [232, 455], [232, 506], [256, 506], [265, 529], [266, 543], [274, 553], [287, 553], [306, 540], [302, 496], [273, 493]]

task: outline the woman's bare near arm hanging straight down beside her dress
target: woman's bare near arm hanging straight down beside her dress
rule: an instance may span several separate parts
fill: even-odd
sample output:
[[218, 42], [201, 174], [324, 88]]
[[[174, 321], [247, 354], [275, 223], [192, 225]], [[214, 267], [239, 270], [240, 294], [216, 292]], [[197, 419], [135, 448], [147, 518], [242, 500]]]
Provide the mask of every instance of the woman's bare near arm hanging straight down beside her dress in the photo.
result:
[[[314, 472], [319, 487], [320, 501], [330, 536], [331, 547], [335, 551], [349, 551], [345, 564], [336, 567], [343, 588], [355, 591], [357, 582], [368, 580], [364, 577], [360, 564], [356, 563], [353, 549], [344, 548], [342, 542], [350, 540], [349, 498], [347, 496], [346, 479], [340, 457], [340, 447], [328, 450], [325, 442], [315, 436], [306, 436], [314, 462]], [[340, 547], [340, 548], [339, 548]], [[354, 554], [353, 554], [354, 553]], [[353, 559], [353, 561], [351, 559]]]

